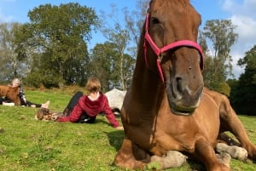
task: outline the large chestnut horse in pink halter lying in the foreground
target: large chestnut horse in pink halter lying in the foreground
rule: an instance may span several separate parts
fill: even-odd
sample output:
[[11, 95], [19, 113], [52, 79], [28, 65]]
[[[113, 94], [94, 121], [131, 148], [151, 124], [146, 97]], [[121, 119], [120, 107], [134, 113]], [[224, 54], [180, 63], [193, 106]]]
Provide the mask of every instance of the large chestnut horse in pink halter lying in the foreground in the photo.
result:
[[256, 147], [228, 98], [204, 86], [200, 24], [201, 15], [189, 0], [149, 3], [121, 108], [125, 136], [113, 160], [116, 166], [143, 169], [155, 157], [164, 161], [179, 151], [202, 162], [207, 171], [227, 171], [230, 167], [214, 151], [219, 135], [227, 131], [248, 158], [256, 159]]

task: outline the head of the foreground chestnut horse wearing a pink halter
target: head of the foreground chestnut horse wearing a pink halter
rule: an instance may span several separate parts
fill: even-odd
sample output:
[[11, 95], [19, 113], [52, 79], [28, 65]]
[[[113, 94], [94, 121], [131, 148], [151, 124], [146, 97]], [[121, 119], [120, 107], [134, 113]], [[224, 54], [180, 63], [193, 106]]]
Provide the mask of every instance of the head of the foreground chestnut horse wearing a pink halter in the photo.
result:
[[147, 65], [157, 66], [172, 112], [190, 115], [201, 101], [203, 54], [196, 43], [201, 16], [189, 0], [153, 0], [145, 22]]

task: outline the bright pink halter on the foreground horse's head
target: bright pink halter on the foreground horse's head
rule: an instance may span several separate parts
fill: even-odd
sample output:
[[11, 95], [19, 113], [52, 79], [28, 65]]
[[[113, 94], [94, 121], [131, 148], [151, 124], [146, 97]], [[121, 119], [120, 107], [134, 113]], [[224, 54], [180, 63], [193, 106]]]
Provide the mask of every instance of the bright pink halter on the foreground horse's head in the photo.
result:
[[180, 41], [168, 44], [163, 48], [158, 48], [157, 45], [152, 40], [152, 38], [150, 37], [150, 35], [148, 34], [148, 18], [149, 18], [149, 16], [147, 14], [146, 23], [145, 23], [145, 37], [144, 37], [144, 55], [145, 55], [144, 58], [145, 58], [146, 65], [148, 66], [147, 44], [146, 44], [146, 42], [148, 42], [150, 47], [153, 49], [154, 54], [156, 54], [157, 57], [158, 57], [157, 60], [156, 60], [156, 63], [157, 63], [157, 68], [158, 68], [158, 71], [159, 71], [159, 74], [160, 74], [160, 78], [161, 78], [163, 83], [165, 82], [165, 78], [164, 78], [164, 75], [163, 75], [163, 71], [160, 67], [160, 61], [161, 61], [160, 54], [162, 54], [162, 53], [164, 53], [167, 50], [172, 49], [172, 48], [178, 48], [178, 47], [185, 46], [185, 47], [190, 47], [190, 48], [197, 49], [200, 56], [201, 56], [201, 64], [200, 64], [201, 71], [203, 70], [203, 68], [204, 68], [204, 62], [203, 62], [204, 61], [204, 55], [203, 55], [201, 46], [198, 43], [195, 43], [195, 42], [190, 41], [190, 40], [180, 40]]

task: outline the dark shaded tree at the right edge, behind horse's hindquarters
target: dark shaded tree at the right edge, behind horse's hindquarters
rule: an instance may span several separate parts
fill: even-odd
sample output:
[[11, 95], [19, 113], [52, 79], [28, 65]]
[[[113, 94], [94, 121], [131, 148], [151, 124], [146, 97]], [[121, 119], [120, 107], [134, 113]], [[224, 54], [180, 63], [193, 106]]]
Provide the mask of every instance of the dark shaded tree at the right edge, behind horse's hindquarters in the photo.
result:
[[238, 65], [245, 66], [245, 72], [233, 84], [230, 100], [239, 113], [256, 115], [256, 45], [238, 60]]

